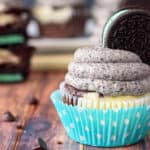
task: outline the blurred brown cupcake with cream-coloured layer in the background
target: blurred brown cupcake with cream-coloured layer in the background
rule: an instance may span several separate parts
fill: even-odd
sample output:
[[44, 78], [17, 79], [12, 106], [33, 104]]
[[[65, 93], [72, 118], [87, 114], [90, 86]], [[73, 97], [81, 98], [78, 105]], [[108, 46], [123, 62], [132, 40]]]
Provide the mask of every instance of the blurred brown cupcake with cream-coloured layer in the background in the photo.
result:
[[88, 18], [84, 0], [37, 0], [33, 15], [43, 37], [81, 36]]

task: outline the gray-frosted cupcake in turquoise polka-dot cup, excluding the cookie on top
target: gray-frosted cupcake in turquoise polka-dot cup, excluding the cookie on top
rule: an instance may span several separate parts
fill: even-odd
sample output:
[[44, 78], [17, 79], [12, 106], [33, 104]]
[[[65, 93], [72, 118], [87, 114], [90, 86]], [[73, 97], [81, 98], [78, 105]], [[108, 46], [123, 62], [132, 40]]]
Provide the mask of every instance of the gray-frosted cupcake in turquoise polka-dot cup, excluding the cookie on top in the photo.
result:
[[150, 67], [132, 52], [78, 49], [51, 98], [68, 135], [82, 144], [134, 144], [150, 130]]

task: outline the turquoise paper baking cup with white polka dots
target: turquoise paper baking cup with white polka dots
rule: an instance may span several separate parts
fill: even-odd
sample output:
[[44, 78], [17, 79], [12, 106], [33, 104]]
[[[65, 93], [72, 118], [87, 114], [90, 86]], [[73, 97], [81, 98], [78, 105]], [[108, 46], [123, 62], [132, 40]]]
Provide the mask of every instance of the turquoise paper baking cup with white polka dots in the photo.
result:
[[115, 110], [80, 108], [63, 103], [59, 90], [51, 95], [66, 132], [76, 142], [99, 147], [137, 143], [150, 131], [150, 106]]

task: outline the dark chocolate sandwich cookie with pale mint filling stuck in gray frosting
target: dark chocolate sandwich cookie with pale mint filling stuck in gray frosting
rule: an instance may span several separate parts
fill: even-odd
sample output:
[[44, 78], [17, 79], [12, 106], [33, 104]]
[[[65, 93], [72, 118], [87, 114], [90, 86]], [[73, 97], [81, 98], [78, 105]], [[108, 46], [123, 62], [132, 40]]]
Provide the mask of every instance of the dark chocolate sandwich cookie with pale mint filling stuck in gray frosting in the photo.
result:
[[103, 46], [124, 49], [138, 54], [150, 64], [150, 12], [144, 9], [122, 9], [106, 23]]

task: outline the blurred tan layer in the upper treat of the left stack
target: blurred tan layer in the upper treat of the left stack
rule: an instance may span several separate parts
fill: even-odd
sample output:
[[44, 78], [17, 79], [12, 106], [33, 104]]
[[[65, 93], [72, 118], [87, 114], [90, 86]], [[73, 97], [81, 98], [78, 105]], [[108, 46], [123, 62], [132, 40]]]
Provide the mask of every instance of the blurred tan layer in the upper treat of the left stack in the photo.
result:
[[17, 22], [17, 17], [10, 14], [0, 14], [0, 26]]

